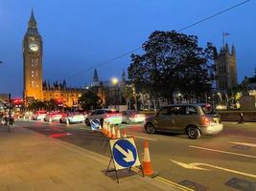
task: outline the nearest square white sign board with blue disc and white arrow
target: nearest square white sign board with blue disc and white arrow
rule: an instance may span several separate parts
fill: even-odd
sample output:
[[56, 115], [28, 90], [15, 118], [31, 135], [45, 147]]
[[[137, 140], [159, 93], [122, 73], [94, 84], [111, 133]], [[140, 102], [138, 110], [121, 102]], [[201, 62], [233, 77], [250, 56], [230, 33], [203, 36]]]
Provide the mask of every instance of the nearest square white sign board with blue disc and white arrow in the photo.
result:
[[116, 170], [141, 165], [133, 138], [110, 139], [109, 143]]

